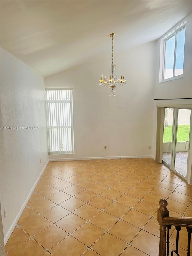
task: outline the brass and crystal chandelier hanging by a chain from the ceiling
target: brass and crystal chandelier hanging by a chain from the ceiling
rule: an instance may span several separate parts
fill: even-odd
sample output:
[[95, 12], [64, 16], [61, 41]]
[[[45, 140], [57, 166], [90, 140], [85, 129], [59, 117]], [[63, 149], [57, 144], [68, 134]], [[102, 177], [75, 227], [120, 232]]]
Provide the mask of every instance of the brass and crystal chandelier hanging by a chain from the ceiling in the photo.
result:
[[110, 65], [110, 72], [109, 72], [109, 79], [106, 80], [106, 76], [103, 78], [103, 74], [101, 75], [101, 79], [99, 80], [99, 84], [104, 87], [110, 87], [111, 91], [109, 96], [113, 99], [116, 96], [115, 88], [116, 85], [123, 86], [126, 85], [126, 80], [124, 79], [124, 75], [121, 73], [121, 79], [117, 79], [116, 75], [116, 65], [113, 63], [113, 37], [115, 33], [110, 34], [109, 36], [112, 37], [112, 64]]

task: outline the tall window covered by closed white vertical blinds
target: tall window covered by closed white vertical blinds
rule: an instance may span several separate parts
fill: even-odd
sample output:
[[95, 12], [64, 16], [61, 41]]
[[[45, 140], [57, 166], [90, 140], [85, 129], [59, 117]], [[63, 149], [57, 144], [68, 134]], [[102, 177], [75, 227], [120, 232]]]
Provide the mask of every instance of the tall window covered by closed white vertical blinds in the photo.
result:
[[49, 154], [72, 154], [73, 88], [46, 88]]

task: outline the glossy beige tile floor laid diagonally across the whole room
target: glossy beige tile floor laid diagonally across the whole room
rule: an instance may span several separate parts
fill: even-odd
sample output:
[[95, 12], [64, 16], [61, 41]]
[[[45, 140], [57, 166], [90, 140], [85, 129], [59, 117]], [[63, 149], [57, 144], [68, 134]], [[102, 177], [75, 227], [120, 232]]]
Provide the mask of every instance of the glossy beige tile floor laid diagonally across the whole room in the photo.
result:
[[[157, 256], [161, 198], [170, 216], [192, 217], [192, 185], [151, 158], [49, 162], [6, 254]], [[172, 227], [172, 250], [175, 236]], [[183, 228], [180, 256], [186, 236]]]

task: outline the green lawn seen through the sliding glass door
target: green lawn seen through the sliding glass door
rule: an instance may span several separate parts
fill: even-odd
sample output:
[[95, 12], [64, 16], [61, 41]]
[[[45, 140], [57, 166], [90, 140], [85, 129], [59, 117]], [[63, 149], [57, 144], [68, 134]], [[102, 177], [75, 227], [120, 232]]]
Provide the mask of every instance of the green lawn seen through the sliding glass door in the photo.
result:
[[[190, 125], [178, 125], [178, 131], [177, 131], [178, 142], [189, 140], [189, 128], [190, 128]], [[163, 142], [172, 141], [172, 129], [173, 129], [173, 125], [165, 125]]]

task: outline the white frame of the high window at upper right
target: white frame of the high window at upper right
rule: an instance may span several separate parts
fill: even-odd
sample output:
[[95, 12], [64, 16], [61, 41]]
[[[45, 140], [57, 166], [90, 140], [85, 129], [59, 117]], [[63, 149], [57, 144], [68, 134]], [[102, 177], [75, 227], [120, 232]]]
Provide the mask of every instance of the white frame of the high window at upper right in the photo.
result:
[[[180, 26], [178, 26], [176, 29], [174, 29], [172, 32], [170, 32], [168, 35], [166, 35], [164, 38], [161, 39], [161, 51], [163, 52], [163, 58], [162, 58], [162, 65], [160, 63], [160, 79], [159, 79], [159, 83], [163, 83], [163, 82], [167, 82], [167, 81], [183, 78], [183, 74], [175, 76], [177, 35], [183, 29], [186, 29], [186, 21], [184, 23], [182, 23]], [[186, 35], [186, 30], [185, 30], [185, 35]], [[165, 64], [166, 64], [165, 63], [165, 61], [166, 61], [166, 42], [170, 38], [172, 38], [173, 36], [176, 36], [176, 38], [175, 38], [175, 49], [174, 49], [174, 62], [173, 62], [173, 77], [164, 79], [164, 77], [165, 77]], [[184, 49], [185, 49], [185, 45], [184, 45]], [[183, 65], [183, 70], [184, 70], [184, 65]]]

